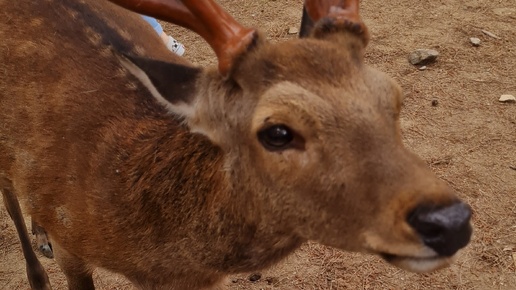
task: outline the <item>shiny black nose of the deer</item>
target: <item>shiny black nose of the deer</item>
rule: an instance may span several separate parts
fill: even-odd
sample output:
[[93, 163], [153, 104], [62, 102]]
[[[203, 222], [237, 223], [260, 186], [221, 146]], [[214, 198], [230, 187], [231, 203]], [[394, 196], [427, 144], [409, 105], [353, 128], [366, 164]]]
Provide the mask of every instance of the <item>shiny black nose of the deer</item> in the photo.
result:
[[408, 216], [408, 223], [425, 245], [439, 255], [452, 256], [471, 238], [470, 218], [471, 208], [456, 202], [446, 207], [419, 206]]

